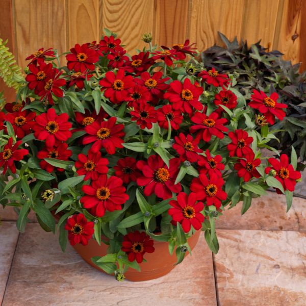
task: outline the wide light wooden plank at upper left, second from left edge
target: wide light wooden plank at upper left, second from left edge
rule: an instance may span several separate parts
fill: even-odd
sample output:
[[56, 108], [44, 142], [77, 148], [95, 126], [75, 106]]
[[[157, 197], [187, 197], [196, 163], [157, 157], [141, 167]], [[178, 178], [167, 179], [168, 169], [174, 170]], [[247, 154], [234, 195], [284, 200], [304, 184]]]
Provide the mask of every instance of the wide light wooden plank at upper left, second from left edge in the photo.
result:
[[39, 48], [66, 49], [65, 2], [62, 0], [15, 0], [18, 65]]

